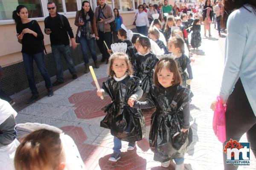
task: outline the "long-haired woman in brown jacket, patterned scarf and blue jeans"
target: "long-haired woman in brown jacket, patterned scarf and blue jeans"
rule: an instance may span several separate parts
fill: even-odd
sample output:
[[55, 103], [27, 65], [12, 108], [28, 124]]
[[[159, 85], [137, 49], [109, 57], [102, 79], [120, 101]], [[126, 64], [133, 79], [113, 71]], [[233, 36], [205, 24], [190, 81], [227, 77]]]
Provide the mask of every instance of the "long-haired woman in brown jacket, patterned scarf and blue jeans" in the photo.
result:
[[99, 68], [97, 63], [97, 56], [94, 46], [94, 40], [99, 40], [99, 34], [96, 28], [96, 19], [93, 13], [93, 10], [90, 7], [90, 3], [88, 1], [83, 1], [82, 8], [80, 11], [76, 12], [76, 20], [75, 25], [78, 26], [77, 34], [79, 37], [79, 41], [81, 44], [83, 57], [84, 57], [84, 65], [85, 65], [85, 73], [89, 72], [89, 58], [88, 51], [93, 58], [93, 62], [95, 68]]

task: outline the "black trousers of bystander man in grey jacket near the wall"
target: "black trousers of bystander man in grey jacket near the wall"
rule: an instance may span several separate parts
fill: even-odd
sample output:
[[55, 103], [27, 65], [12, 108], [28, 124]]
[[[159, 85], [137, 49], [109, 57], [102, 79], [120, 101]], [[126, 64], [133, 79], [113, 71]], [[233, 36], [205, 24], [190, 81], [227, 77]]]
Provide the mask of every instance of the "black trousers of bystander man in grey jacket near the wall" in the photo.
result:
[[[97, 40], [96, 42], [99, 47], [99, 51], [102, 54], [102, 59], [108, 59], [110, 57], [107, 50], [111, 49], [111, 47], [110, 47], [111, 42], [112, 42], [111, 40], [112, 40], [111, 32], [99, 31], [99, 40]], [[108, 49], [106, 48], [106, 45], [103, 41], [105, 41], [107, 43]]]

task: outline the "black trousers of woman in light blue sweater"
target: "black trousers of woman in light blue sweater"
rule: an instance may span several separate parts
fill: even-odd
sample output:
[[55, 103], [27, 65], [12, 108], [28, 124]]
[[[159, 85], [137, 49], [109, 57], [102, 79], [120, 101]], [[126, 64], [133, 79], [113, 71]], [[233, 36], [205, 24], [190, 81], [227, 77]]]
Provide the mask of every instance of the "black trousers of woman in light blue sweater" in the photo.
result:
[[[226, 139], [239, 142], [241, 136], [246, 133], [250, 142], [250, 149], [256, 156], [256, 116], [250, 106], [240, 78], [236, 82], [232, 94], [227, 99], [226, 110]], [[224, 142], [223, 147], [226, 145]], [[252, 155], [250, 155], [252, 157]], [[238, 166], [226, 164], [226, 153], [223, 152], [225, 170], [237, 170]]]

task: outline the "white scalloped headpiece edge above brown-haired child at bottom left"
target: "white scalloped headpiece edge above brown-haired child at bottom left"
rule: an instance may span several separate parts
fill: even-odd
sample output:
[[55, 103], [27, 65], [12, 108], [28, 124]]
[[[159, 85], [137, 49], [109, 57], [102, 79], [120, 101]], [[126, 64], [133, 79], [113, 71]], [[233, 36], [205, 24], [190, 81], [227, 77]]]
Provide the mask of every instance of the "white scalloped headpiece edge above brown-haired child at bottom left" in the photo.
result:
[[40, 130], [40, 129], [46, 129], [56, 133], [63, 133], [63, 131], [58, 127], [47, 125], [47, 124], [41, 124], [41, 123], [30, 123], [30, 122], [19, 123], [15, 127], [19, 127], [19, 128], [28, 130], [30, 132], [33, 132], [35, 130]]

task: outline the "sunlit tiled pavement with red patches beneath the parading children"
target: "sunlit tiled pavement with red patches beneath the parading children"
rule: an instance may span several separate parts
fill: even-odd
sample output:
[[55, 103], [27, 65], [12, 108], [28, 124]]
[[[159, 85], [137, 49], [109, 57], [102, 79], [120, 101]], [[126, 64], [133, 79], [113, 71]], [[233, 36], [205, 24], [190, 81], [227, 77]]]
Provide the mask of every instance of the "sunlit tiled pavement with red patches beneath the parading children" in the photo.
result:
[[[218, 35], [215, 31], [212, 34], [215, 37]], [[193, 143], [185, 156], [185, 167], [187, 170], [221, 170], [222, 144], [213, 133], [213, 112], [209, 107], [220, 87], [224, 38], [203, 38], [202, 41], [200, 51], [193, 55], [191, 89], [195, 96], [190, 105]], [[106, 69], [105, 64], [94, 69], [99, 82], [106, 79]], [[136, 150], [127, 151], [128, 142], [122, 142], [122, 158], [117, 163], [108, 161], [113, 152], [113, 136], [108, 129], [100, 127], [99, 122], [105, 115], [101, 108], [109, 102], [109, 97], [101, 100], [96, 96], [96, 87], [88, 73], [56, 90], [54, 96], [44, 97], [19, 111], [16, 122], [39, 122], [60, 127], [76, 142], [88, 170], [174, 170], [173, 165], [162, 168], [159, 162], [153, 160], [148, 144], [150, 126], [147, 126], [145, 139], [137, 142]], [[146, 113], [145, 118], [149, 125], [150, 113]], [[18, 130], [18, 137], [23, 134], [26, 132]], [[241, 140], [246, 142], [246, 137]], [[255, 158], [253, 153], [250, 155], [250, 167], [239, 167], [239, 170], [255, 169]]]

